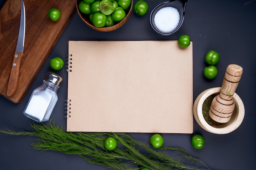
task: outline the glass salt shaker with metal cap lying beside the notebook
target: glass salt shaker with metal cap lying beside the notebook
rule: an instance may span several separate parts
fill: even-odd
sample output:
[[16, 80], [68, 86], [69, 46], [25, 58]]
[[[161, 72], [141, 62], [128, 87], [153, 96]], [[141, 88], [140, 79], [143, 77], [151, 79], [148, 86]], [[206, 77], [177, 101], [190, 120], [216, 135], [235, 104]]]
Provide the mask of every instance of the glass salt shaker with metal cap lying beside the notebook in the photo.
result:
[[48, 121], [58, 100], [57, 91], [61, 81], [62, 77], [48, 72], [42, 86], [31, 94], [23, 114], [38, 122]]

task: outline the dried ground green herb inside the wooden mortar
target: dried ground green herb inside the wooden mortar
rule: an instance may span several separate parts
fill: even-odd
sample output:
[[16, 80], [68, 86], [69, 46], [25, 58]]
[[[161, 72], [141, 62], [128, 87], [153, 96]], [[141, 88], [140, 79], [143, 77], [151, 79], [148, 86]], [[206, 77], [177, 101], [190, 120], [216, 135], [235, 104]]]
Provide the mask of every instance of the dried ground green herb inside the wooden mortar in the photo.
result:
[[213, 98], [215, 97], [216, 95], [210, 95], [209, 97], [207, 97], [205, 100], [204, 100], [204, 103], [203, 103], [203, 106], [202, 106], [202, 113], [203, 113], [203, 117], [205, 119], [205, 121], [211, 125], [211, 126], [214, 126], [214, 127], [218, 127], [220, 125], [222, 125], [222, 123], [219, 123], [217, 121], [214, 121], [213, 119], [211, 119], [210, 115], [209, 115], [209, 110], [210, 110], [210, 107], [211, 107], [211, 102], [213, 101]]

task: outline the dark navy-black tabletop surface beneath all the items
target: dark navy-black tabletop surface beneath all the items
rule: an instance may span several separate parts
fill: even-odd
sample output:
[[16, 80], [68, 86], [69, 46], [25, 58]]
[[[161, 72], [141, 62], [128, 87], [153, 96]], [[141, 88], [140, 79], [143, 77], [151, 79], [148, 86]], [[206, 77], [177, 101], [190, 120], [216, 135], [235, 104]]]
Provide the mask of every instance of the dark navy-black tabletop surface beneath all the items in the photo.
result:
[[[162, 134], [165, 140], [164, 145], [186, 149], [212, 170], [255, 169], [255, 0], [251, 3], [247, 3], [249, 0], [189, 0], [182, 27], [170, 36], [158, 35], [149, 24], [150, 11], [164, 0], [147, 0], [147, 2], [149, 9], [146, 15], [137, 16], [133, 11], [124, 26], [108, 33], [94, 31], [83, 23], [76, 12], [23, 101], [20, 104], [13, 104], [0, 96], [0, 128], [31, 129], [30, 124], [33, 123], [33, 120], [25, 117], [22, 112], [32, 91], [42, 84], [48, 71], [53, 71], [49, 67], [49, 60], [52, 57], [65, 59], [69, 40], [177, 40], [180, 35], [188, 34], [193, 42], [193, 99], [195, 100], [202, 91], [208, 88], [221, 86], [227, 66], [238, 64], [243, 67], [244, 72], [236, 93], [244, 102], [245, 118], [237, 130], [226, 135], [207, 132], [194, 120], [193, 134]], [[4, 1], [0, 1], [0, 7], [3, 4]], [[216, 66], [219, 71], [218, 76], [208, 81], [203, 76], [203, 69], [207, 66], [204, 62], [204, 55], [210, 50], [218, 51], [221, 58]], [[59, 100], [51, 119], [55, 119], [55, 124], [65, 128], [64, 99], [67, 97], [67, 73], [64, 69], [56, 71], [56, 73], [63, 77], [63, 82], [58, 90]], [[161, 122], [159, 122], [159, 126], [161, 126]], [[195, 150], [191, 146], [190, 139], [194, 134], [201, 134], [205, 138], [206, 144], [203, 149]], [[133, 133], [130, 135], [136, 140], [148, 142], [152, 134]], [[109, 169], [92, 165], [76, 155], [65, 155], [55, 151], [43, 153], [29, 145], [32, 141], [33, 137], [0, 133], [0, 170]]]

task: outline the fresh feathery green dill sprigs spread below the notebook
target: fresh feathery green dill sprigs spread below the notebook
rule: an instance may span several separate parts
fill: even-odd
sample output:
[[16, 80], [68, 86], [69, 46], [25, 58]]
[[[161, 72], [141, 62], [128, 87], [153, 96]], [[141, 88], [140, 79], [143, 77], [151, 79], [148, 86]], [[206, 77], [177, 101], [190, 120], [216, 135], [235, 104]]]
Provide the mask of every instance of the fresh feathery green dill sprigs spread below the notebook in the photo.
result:
[[[162, 147], [162, 150], [171, 150], [177, 153], [169, 156], [166, 152], [155, 150], [148, 144], [136, 141], [126, 133], [105, 132], [66, 132], [54, 124], [33, 124], [34, 131], [0, 130], [10, 135], [27, 135], [36, 137], [31, 143], [38, 150], [55, 150], [66, 154], [80, 155], [89, 163], [106, 166], [116, 170], [139, 170], [147, 167], [151, 170], [199, 170], [193, 166], [204, 166], [202, 161], [191, 156], [182, 148]], [[104, 148], [104, 141], [108, 137], [115, 137], [118, 146], [108, 151]], [[146, 153], [141, 153], [140, 150]], [[181, 160], [185, 160], [186, 164]], [[187, 160], [191, 162], [187, 165]], [[199, 164], [198, 164], [199, 163]]]

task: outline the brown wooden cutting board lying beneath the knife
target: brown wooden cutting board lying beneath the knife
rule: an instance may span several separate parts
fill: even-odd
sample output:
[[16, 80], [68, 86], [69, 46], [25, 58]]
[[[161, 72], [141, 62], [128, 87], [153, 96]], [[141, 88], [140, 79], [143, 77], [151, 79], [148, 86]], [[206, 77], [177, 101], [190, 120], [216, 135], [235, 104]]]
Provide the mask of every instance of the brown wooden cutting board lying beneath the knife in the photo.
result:
[[[6, 95], [20, 26], [20, 0], [7, 0], [0, 11], [0, 94], [19, 103], [76, 11], [74, 0], [23, 0], [26, 14], [24, 57], [16, 92]], [[51, 21], [47, 12], [57, 8], [61, 18]]]

